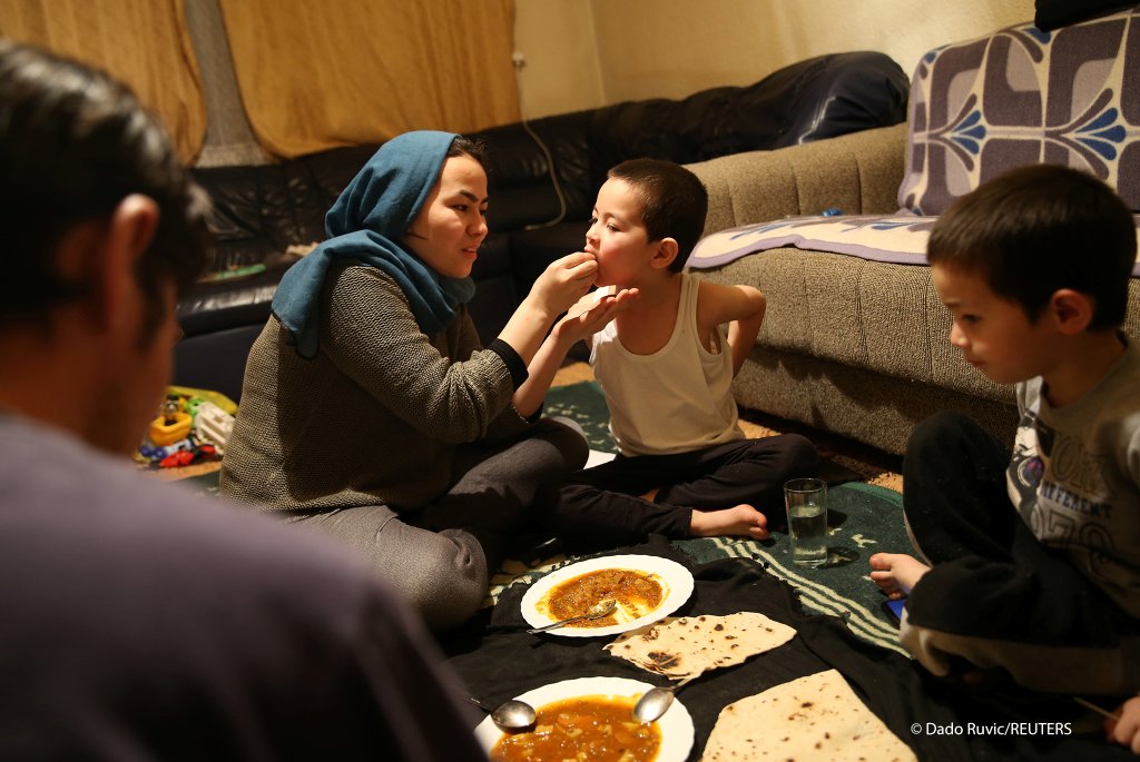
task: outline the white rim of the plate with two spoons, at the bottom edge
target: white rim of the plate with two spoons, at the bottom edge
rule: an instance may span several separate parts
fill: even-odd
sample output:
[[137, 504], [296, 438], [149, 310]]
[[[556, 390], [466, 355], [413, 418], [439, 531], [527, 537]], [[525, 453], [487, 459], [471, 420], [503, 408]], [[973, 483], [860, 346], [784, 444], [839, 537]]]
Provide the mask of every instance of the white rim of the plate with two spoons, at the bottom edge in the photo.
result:
[[[515, 698], [537, 708], [576, 696], [640, 696], [652, 687], [648, 682], [627, 678], [578, 678], [577, 680], [552, 682], [548, 686], [528, 690]], [[653, 762], [684, 762], [693, 747], [694, 737], [693, 718], [689, 715], [689, 710], [679, 699], [674, 699], [657, 724], [661, 730], [661, 748]], [[479, 739], [488, 754], [504, 735], [506, 734], [495, 727], [490, 718], [486, 718], [475, 728], [475, 738]]]

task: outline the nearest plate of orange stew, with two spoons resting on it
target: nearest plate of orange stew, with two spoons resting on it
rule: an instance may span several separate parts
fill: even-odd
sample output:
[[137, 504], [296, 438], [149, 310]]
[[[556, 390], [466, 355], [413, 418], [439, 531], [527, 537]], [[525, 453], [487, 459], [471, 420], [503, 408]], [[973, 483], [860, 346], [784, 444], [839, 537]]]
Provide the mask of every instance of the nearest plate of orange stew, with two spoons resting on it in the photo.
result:
[[656, 722], [642, 724], [633, 718], [634, 704], [651, 687], [628, 678], [554, 682], [518, 696], [538, 713], [532, 730], [504, 732], [487, 718], [475, 728], [475, 738], [491, 762], [684, 762], [694, 731], [679, 699]]

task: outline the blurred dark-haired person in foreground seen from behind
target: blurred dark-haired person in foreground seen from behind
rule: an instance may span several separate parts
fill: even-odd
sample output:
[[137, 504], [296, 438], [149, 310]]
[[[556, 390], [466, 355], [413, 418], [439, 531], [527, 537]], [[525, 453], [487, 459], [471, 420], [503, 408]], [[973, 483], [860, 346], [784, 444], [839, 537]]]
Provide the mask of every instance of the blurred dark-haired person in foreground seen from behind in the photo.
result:
[[367, 567], [125, 457], [210, 249], [157, 121], [0, 41], [0, 759], [483, 759]]

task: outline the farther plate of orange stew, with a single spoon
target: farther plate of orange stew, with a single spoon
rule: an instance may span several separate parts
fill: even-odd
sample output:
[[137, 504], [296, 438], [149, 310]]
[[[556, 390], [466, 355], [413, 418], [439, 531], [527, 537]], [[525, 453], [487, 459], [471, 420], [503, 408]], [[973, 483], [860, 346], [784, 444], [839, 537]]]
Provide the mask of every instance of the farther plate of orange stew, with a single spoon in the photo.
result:
[[604, 556], [563, 566], [539, 579], [522, 597], [522, 617], [530, 626], [540, 628], [612, 599], [617, 607], [609, 616], [549, 630], [571, 638], [611, 636], [668, 616], [692, 592], [692, 573], [674, 560]]

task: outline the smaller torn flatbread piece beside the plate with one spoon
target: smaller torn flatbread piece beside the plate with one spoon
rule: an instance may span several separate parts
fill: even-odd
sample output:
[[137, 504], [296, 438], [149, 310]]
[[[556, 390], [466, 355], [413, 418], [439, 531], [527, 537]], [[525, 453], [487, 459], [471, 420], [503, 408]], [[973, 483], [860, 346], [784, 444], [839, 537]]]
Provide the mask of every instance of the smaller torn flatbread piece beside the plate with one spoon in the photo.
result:
[[644, 670], [682, 680], [740, 664], [793, 637], [795, 629], [755, 612], [727, 616], [667, 616], [621, 634], [605, 649]]

